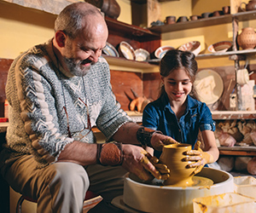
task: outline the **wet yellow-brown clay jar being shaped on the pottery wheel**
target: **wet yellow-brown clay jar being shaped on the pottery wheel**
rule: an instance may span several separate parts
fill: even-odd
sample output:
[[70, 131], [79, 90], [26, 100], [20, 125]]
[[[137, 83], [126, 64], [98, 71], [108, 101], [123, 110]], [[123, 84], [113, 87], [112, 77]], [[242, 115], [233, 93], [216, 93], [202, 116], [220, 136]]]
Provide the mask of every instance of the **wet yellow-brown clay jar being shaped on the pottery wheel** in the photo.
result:
[[191, 145], [182, 143], [163, 147], [160, 162], [166, 164], [171, 170], [170, 177], [164, 181], [164, 185], [172, 185], [174, 187], [189, 187], [193, 185], [192, 177], [195, 175], [195, 168], [186, 168], [189, 163], [183, 160], [186, 157], [184, 152], [189, 150], [191, 150]]

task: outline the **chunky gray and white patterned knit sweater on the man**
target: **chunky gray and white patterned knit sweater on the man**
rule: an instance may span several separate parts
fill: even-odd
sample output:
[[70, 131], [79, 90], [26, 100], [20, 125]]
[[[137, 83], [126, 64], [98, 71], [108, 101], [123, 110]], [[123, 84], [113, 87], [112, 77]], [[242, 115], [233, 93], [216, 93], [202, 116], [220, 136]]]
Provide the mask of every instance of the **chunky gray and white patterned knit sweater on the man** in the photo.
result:
[[[113, 95], [107, 61], [100, 57], [83, 78], [70, 77], [56, 60], [52, 40], [15, 59], [9, 69], [6, 95], [10, 152], [5, 152], [5, 158], [32, 154], [39, 167], [55, 162], [74, 139], [95, 142], [92, 132], [86, 135], [87, 109], [91, 126], [96, 125], [107, 140], [131, 121]], [[72, 138], [67, 136], [67, 122]]]

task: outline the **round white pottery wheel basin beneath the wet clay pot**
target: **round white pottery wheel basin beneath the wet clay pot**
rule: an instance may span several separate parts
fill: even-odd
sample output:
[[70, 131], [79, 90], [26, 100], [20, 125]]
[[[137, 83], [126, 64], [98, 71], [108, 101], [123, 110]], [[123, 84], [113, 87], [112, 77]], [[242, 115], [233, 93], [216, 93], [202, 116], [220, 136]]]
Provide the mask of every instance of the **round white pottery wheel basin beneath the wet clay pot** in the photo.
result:
[[160, 181], [146, 183], [130, 174], [125, 177], [123, 201], [143, 212], [193, 213], [193, 199], [234, 192], [233, 176], [223, 170], [203, 168], [194, 177], [195, 186], [172, 187]]

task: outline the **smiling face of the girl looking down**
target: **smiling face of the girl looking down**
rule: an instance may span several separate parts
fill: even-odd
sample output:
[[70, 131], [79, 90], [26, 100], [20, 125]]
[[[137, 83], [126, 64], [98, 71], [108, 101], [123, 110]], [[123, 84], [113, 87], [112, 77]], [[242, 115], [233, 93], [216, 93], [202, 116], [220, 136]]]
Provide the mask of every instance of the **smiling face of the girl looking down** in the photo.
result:
[[170, 101], [183, 103], [192, 89], [192, 82], [183, 68], [173, 70], [168, 76], [162, 77], [162, 82]]

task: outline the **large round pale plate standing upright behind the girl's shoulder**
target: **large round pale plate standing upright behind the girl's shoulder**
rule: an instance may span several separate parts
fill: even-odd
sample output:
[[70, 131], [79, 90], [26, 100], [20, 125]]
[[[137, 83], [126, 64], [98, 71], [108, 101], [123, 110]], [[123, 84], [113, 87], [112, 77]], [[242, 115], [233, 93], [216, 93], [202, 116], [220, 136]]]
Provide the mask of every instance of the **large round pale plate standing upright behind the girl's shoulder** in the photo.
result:
[[213, 104], [224, 91], [224, 82], [218, 72], [210, 69], [201, 70], [195, 76], [195, 89], [200, 101]]

